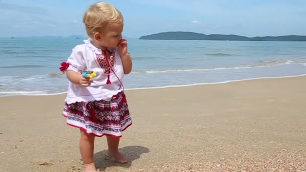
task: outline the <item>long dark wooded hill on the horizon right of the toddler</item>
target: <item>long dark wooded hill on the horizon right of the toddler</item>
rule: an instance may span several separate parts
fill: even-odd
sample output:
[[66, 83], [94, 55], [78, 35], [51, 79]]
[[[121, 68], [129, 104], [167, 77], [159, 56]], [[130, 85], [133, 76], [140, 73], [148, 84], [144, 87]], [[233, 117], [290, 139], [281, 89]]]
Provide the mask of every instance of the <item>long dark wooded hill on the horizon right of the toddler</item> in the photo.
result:
[[264, 36], [246, 37], [239, 35], [205, 35], [195, 32], [162, 32], [152, 35], [141, 36], [139, 39], [147, 40], [223, 40], [223, 41], [306, 41], [306, 36]]

